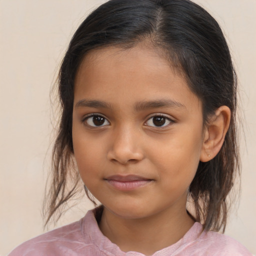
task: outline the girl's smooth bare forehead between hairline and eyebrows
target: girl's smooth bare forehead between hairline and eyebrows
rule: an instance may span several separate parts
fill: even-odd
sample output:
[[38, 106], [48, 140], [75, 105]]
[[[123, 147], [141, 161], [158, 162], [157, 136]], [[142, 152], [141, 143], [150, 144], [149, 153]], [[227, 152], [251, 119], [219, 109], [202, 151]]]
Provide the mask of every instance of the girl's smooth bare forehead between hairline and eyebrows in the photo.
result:
[[123, 49], [107, 47], [89, 51], [75, 78], [75, 99], [103, 97], [138, 101], [171, 97], [188, 107], [200, 100], [191, 92], [181, 72], [171, 65], [161, 50], [138, 44]]

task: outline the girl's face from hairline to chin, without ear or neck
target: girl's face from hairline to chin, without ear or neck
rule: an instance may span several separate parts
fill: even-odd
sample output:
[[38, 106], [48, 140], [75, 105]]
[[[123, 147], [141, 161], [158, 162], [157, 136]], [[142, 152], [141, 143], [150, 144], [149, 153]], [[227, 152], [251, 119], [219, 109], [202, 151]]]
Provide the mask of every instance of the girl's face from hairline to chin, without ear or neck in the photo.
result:
[[87, 54], [75, 79], [72, 138], [84, 184], [110, 212], [185, 210], [202, 150], [202, 107], [153, 48]]

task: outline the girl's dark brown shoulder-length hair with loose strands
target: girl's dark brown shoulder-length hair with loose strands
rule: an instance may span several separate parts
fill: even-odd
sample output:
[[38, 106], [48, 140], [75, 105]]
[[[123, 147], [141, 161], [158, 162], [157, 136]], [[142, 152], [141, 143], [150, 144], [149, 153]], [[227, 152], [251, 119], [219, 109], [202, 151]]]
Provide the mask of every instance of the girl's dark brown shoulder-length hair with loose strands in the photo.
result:
[[61, 119], [52, 153], [52, 183], [45, 197], [46, 223], [79, 187], [73, 159], [72, 107], [74, 78], [81, 60], [92, 49], [110, 45], [129, 48], [143, 40], [160, 48], [186, 77], [191, 91], [202, 101], [205, 125], [219, 106], [231, 110], [219, 153], [208, 162], [199, 162], [189, 187], [195, 218], [206, 230], [224, 230], [226, 198], [239, 172], [236, 76], [218, 23], [189, 0], [110, 0], [95, 9], [74, 33], [58, 75]]

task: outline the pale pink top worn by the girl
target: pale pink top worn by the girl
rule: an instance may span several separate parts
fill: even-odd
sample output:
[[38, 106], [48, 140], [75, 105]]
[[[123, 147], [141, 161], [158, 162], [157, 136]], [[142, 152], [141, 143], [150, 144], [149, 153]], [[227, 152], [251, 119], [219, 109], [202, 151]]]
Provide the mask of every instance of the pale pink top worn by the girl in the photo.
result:
[[[156, 251], [153, 256], [206, 256], [252, 255], [233, 238], [213, 231], [202, 232], [202, 225], [195, 222], [176, 243]], [[9, 256], [78, 256], [111, 255], [128, 256], [144, 254], [120, 248], [105, 237], [98, 228], [94, 211], [89, 210], [79, 221], [56, 228], [34, 237], [10, 252]]]

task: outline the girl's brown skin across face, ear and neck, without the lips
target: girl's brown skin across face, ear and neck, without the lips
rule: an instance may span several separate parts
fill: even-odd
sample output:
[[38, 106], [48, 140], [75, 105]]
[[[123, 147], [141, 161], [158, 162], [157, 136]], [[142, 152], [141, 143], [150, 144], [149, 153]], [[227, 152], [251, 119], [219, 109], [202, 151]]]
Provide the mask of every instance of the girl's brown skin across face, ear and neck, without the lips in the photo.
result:
[[[217, 154], [229, 120], [221, 106], [204, 126], [199, 98], [148, 43], [87, 53], [75, 79], [72, 139], [81, 179], [104, 206], [102, 233], [146, 255], [178, 241], [194, 223], [186, 200], [198, 162]], [[148, 182], [127, 191], [109, 183], [130, 174]]]

